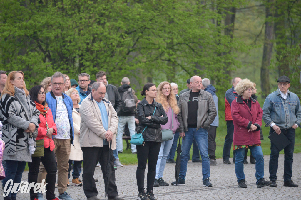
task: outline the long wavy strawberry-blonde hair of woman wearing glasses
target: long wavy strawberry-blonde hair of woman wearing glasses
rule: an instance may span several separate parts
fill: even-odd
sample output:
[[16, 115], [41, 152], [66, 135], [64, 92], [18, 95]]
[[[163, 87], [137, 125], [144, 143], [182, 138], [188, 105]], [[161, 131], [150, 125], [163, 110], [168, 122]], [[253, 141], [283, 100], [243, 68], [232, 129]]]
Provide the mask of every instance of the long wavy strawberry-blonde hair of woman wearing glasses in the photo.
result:
[[169, 92], [169, 95], [167, 96], [167, 101], [166, 101], [166, 98], [164, 97], [164, 95], [162, 93], [162, 89], [163, 89], [164, 85], [169, 85], [169, 87], [172, 88], [169, 82], [167, 82], [167, 81], [161, 82], [159, 84], [159, 86], [157, 87], [157, 89], [159, 91], [158, 91], [158, 94], [156, 97], [156, 102], [161, 103], [165, 111], [167, 111], [170, 106], [173, 109], [173, 112], [175, 114], [178, 114], [180, 112], [180, 109], [177, 104], [177, 99], [175, 98], [175, 93], [171, 89]]

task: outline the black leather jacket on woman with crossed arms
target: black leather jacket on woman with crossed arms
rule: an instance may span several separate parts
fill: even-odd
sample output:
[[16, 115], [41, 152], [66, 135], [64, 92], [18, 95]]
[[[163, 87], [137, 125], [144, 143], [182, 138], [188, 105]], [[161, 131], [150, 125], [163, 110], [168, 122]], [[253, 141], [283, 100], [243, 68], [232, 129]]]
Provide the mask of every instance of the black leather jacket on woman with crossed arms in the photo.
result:
[[[153, 115], [155, 107], [157, 108]], [[161, 115], [163, 117], [160, 117]], [[151, 120], [146, 118], [149, 116], [152, 116]], [[137, 117], [139, 120], [137, 133], [141, 133], [147, 126], [143, 132], [144, 141], [162, 142], [161, 124], [164, 125], [168, 121], [163, 106], [155, 100], [152, 104], [149, 104], [144, 98], [137, 105]]]

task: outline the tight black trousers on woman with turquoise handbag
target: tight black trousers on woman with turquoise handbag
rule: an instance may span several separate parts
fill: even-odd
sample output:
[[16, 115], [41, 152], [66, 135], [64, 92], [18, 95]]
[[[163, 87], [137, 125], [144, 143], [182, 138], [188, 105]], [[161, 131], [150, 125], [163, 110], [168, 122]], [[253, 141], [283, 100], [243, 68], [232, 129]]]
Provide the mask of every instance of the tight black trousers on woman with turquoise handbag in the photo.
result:
[[[144, 142], [144, 144], [136, 145], [138, 166], [136, 171], [136, 179], [138, 191], [144, 191], [144, 171], [147, 163], [147, 186], [146, 190], [152, 190], [156, 178], [156, 165], [160, 152], [161, 143]], [[148, 162], [147, 162], [148, 158]]]

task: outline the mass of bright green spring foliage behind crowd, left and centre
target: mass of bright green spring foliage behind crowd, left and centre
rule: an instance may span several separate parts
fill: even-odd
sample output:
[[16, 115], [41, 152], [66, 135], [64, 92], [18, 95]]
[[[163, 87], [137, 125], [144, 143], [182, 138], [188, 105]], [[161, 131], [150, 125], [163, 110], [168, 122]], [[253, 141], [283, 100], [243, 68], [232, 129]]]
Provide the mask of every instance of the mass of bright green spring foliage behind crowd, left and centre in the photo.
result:
[[[241, 65], [228, 52], [244, 45], [212, 22], [239, 2], [4, 0], [0, 62], [8, 71], [24, 71], [29, 86], [54, 71], [94, 79], [104, 70], [113, 84], [124, 76], [159, 83], [199, 74], [224, 91], [222, 83], [230, 80], [225, 69]], [[219, 12], [212, 9], [217, 4]]]

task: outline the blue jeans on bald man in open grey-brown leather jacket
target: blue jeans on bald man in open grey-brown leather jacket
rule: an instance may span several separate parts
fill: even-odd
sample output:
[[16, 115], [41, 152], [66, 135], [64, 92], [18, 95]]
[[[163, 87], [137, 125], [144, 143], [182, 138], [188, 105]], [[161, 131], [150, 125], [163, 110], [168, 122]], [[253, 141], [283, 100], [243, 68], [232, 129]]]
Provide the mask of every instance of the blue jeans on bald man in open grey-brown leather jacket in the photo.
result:
[[186, 171], [187, 171], [187, 161], [189, 150], [191, 148], [193, 139], [195, 138], [197, 146], [199, 147], [202, 162], [202, 173], [203, 180], [210, 177], [210, 165], [208, 157], [208, 133], [206, 129], [200, 128], [188, 128], [188, 131], [185, 132], [185, 138], [182, 142], [182, 153], [181, 153], [181, 169], [179, 178], [185, 180]]

